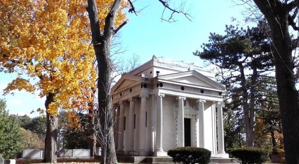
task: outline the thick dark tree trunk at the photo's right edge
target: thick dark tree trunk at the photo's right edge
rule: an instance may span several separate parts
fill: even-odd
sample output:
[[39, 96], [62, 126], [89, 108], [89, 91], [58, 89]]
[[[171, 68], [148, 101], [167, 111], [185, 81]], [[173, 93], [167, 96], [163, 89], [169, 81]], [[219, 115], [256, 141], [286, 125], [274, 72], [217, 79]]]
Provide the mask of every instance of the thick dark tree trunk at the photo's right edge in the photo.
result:
[[275, 49], [277, 93], [287, 164], [299, 164], [299, 105], [286, 6], [277, 0], [254, 0], [268, 20]]

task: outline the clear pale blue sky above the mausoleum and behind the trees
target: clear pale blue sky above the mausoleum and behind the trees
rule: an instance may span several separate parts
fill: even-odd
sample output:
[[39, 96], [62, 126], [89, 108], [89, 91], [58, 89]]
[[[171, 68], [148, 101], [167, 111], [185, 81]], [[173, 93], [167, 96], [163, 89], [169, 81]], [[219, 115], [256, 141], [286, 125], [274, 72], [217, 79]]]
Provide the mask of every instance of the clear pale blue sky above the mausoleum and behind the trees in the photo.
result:
[[[174, 14], [176, 22], [161, 21], [163, 6], [158, 0], [137, 0], [134, 4], [137, 10], [143, 9], [137, 15], [128, 13], [129, 22], [119, 31], [122, 47], [126, 52], [118, 55], [122, 60], [140, 57], [140, 64], [149, 61], [153, 55], [203, 66], [204, 62], [193, 56], [192, 52], [201, 50], [200, 45], [208, 42], [210, 32], [224, 34], [225, 25], [244, 22], [245, 11], [242, 5], [236, 5], [232, 0], [170, 0], [171, 6], [180, 6], [185, 1], [184, 9], [191, 15], [191, 21], [182, 14]], [[168, 18], [169, 12], [164, 12]], [[232, 21], [232, 17], [236, 18]], [[38, 116], [37, 108], [44, 109], [45, 97], [40, 98], [25, 91], [13, 91], [13, 94], [2, 95], [7, 83], [15, 79], [16, 74], [0, 73], [0, 98], [6, 100], [6, 109], [10, 114], [30, 117]]]

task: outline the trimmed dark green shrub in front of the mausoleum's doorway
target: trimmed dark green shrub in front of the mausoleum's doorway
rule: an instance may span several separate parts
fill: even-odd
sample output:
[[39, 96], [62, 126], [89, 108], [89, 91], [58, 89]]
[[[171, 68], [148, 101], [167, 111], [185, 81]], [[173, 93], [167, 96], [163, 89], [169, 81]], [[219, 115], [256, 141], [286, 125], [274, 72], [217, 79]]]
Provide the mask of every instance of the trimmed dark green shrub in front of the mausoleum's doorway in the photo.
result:
[[180, 147], [168, 150], [167, 155], [172, 157], [174, 163], [208, 164], [211, 158], [211, 151], [204, 148]]

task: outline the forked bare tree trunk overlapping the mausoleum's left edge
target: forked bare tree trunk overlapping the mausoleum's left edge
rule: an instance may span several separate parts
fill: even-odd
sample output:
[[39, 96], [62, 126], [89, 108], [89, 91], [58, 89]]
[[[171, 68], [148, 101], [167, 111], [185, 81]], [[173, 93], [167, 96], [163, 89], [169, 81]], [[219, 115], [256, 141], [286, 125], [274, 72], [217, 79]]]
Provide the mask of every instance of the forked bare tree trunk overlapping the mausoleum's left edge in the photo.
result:
[[103, 34], [100, 31], [98, 20], [98, 8], [96, 0], [87, 0], [87, 12], [89, 15], [92, 43], [94, 44], [95, 55], [98, 62], [98, 102], [99, 122], [103, 138], [102, 157], [105, 164], [117, 164], [115, 152], [113, 116], [111, 105], [111, 80], [112, 62], [110, 59], [110, 48], [113, 35], [121, 28], [114, 30], [114, 22], [121, 0], [115, 0], [105, 19]]

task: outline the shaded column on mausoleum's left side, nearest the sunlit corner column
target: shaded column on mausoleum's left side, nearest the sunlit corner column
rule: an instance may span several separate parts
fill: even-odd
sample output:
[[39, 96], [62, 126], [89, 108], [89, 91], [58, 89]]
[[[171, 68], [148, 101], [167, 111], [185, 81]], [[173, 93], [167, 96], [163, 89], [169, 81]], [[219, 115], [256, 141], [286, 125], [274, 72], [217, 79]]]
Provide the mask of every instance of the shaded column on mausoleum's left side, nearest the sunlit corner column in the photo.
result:
[[147, 103], [148, 94], [140, 95], [141, 104], [140, 104], [140, 123], [138, 125], [139, 129], [139, 155], [146, 156], [146, 103]]

